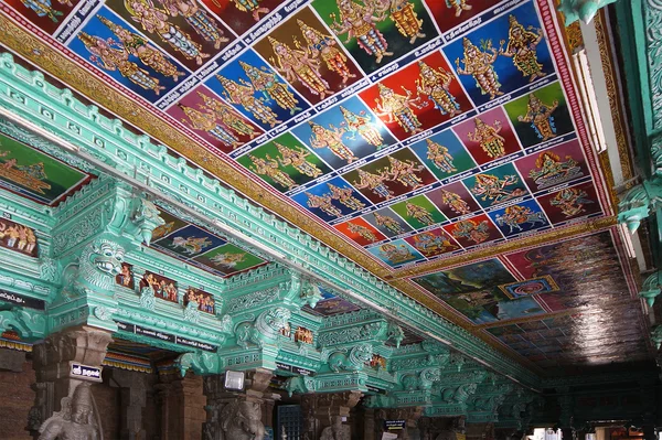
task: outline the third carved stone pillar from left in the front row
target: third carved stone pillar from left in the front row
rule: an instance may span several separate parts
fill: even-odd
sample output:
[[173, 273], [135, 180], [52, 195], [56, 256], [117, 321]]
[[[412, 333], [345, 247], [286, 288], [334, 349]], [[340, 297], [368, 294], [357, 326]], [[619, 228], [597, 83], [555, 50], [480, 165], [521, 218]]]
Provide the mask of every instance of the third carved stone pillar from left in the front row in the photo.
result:
[[[301, 408], [307, 417], [308, 437], [310, 439], [320, 439], [325, 428], [331, 428], [334, 423], [340, 428], [339, 421], [344, 418], [342, 429], [351, 431], [350, 411], [359, 404], [363, 397], [361, 391], [307, 394], [301, 398]], [[333, 429], [339, 429], [333, 428]]]

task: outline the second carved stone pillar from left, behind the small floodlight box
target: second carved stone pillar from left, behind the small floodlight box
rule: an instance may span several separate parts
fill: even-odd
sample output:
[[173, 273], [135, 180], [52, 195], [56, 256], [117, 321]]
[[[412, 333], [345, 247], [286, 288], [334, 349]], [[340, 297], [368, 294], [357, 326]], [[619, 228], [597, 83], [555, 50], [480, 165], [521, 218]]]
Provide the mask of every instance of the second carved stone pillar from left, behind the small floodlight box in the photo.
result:
[[254, 429], [260, 429], [260, 426], [273, 428], [274, 400], [280, 398], [268, 390], [273, 375], [273, 372], [263, 368], [246, 372], [243, 391], [225, 389], [224, 375], [206, 376], [204, 395], [207, 405], [203, 439], [233, 440], [232, 431], [238, 428], [234, 423], [238, 417], [249, 420]]

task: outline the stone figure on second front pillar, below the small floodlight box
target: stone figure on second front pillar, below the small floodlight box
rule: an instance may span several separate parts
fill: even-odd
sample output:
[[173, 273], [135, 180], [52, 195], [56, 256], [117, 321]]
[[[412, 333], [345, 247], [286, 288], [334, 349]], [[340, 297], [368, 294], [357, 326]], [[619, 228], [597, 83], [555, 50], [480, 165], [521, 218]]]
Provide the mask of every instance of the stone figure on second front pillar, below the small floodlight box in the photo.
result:
[[221, 429], [227, 440], [264, 440], [259, 404], [235, 400], [221, 410]]

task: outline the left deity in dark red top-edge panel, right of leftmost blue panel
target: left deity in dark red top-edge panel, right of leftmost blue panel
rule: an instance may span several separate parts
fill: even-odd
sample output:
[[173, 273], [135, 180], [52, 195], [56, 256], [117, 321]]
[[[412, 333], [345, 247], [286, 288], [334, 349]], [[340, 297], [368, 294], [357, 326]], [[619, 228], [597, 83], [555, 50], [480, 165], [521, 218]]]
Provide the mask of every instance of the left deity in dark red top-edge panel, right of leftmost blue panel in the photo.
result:
[[131, 14], [131, 19], [140, 23], [145, 31], [156, 33], [173, 50], [189, 60], [195, 60], [197, 65], [202, 64], [203, 58], [210, 57], [189, 34], [175, 24], [171, 24], [168, 21], [168, 13], [157, 8], [151, 0], [125, 0], [125, 8]]

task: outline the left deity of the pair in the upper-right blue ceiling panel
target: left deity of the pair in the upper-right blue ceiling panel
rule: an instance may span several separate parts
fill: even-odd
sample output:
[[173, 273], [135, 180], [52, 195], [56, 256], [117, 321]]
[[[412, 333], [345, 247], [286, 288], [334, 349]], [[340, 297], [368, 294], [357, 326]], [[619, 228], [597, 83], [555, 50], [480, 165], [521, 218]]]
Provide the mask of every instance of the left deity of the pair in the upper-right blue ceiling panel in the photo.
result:
[[462, 40], [462, 44], [465, 45], [465, 57], [462, 58], [465, 68], [460, 67], [460, 58], [457, 58], [456, 66], [458, 74], [472, 75], [481, 93], [490, 95], [490, 99], [494, 99], [498, 95], [503, 95], [503, 92], [499, 90], [501, 84], [494, 71], [494, 62], [499, 56], [499, 51], [492, 47], [492, 40], [482, 43], [482, 52], [467, 37]]

